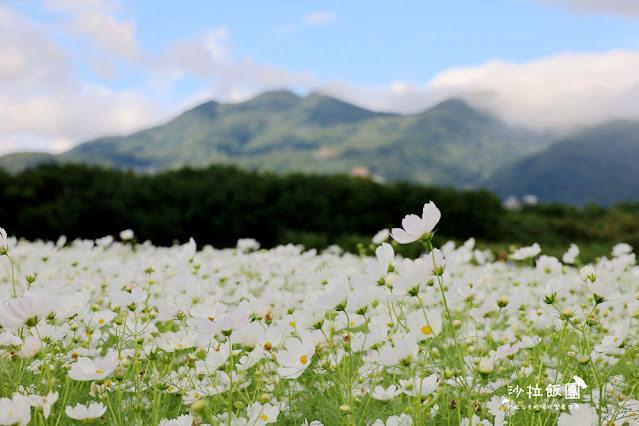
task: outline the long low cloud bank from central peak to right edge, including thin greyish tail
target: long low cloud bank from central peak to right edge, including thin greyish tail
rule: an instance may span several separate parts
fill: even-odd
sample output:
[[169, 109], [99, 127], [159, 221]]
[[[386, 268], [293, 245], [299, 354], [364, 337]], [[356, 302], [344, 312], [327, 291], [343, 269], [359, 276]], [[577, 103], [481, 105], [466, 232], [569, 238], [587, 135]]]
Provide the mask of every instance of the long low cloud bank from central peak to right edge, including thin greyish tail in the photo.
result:
[[595, 125], [639, 119], [639, 52], [566, 53], [523, 63], [494, 60], [446, 70], [424, 85], [333, 82], [321, 91], [377, 111], [416, 113], [461, 97], [517, 125]]

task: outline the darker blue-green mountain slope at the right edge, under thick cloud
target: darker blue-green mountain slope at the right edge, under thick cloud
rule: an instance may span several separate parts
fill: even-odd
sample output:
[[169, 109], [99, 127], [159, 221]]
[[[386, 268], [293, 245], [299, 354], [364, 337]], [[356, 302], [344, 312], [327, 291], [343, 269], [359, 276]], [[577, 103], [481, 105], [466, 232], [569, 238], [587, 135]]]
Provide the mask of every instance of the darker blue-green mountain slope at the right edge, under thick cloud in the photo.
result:
[[639, 200], [639, 122], [617, 121], [576, 132], [505, 166], [486, 182], [502, 197], [612, 205]]

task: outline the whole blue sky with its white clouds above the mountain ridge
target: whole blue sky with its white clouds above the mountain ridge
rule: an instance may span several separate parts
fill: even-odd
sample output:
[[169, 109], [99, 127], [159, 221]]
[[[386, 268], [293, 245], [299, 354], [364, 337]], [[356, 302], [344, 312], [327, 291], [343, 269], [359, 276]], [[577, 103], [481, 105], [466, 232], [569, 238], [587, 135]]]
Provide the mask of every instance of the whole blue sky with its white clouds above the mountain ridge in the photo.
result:
[[0, 152], [282, 87], [400, 113], [460, 96], [536, 128], [639, 118], [639, 2], [0, 3]]

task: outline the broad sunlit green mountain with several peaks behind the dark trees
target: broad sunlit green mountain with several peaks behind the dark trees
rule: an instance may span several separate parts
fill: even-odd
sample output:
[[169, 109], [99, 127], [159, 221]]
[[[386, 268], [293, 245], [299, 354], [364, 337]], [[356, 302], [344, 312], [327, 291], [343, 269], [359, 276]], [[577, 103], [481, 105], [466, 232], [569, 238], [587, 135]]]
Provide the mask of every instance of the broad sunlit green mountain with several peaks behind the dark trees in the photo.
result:
[[[264, 93], [239, 104], [207, 102], [129, 136], [104, 137], [60, 162], [161, 170], [236, 164], [276, 172], [349, 173], [472, 187], [499, 167], [538, 152], [546, 137], [510, 127], [459, 99], [420, 114], [366, 110], [321, 94]], [[0, 167], [15, 158], [0, 158]], [[32, 165], [37, 161], [31, 161]]]

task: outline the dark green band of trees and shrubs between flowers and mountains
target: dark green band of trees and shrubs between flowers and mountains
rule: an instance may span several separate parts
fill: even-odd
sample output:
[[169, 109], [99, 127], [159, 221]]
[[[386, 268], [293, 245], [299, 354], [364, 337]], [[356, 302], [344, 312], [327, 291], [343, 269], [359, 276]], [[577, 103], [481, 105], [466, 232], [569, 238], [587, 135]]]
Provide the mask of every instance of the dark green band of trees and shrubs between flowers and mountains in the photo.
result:
[[[80, 165], [41, 165], [16, 175], [0, 171], [1, 225], [30, 240], [117, 236], [140, 241], [234, 246], [251, 237], [263, 247], [289, 242], [357, 251], [382, 228], [400, 226], [433, 200], [442, 211], [436, 237], [507, 252], [538, 242], [560, 256], [571, 242], [582, 259], [624, 241], [639, 248], [639, 203], [604, 208], [546, 204], [505, 210], [488, 191], [457, 191], [347, 176], [247, 172], [235, 167], [184, 168], [154, 175]], [[402, 247], [406, 254], [418, 247]], [[502, 253], [503, 255], [504, 253]]]

